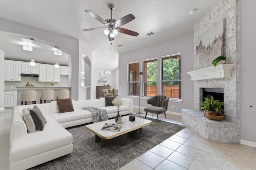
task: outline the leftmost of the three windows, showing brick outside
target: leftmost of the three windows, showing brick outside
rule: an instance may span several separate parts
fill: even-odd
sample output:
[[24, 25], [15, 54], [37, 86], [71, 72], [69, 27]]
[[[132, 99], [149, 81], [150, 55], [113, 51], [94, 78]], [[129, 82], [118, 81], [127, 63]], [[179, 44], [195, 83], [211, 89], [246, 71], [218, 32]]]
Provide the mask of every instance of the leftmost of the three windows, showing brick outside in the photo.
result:
[[140, 63], [129, 63], [128, 64], [128, 74], [129, 74], [129, 79], [128, 79], [128, 94], [132, 96], [139, 96], [140, 94], [140, 87], [139, 87], [139, 82], [140, 82]]

